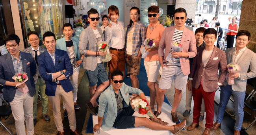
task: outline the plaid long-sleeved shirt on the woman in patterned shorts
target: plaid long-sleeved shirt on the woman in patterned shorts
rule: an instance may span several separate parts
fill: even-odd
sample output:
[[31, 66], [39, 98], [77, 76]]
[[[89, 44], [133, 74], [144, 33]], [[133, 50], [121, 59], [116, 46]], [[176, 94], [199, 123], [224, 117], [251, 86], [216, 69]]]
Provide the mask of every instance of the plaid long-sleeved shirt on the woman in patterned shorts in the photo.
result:
[[[132, 23], [132, 26], [133, 26], [133, 23]], [[127, 27], [124, 48], [126, 48], [127, 34], [131, 30], [130, 29], [131, 27]], [[141, 49], [141, 46], [143, 45], [145, 40], [146, 40], [146, 27], [144, 26], [144, 24], [138, 21], [135, 24], [134, 33], [132, 35], [132, 57], [137, 57], [139, 53], [139, 49]]]

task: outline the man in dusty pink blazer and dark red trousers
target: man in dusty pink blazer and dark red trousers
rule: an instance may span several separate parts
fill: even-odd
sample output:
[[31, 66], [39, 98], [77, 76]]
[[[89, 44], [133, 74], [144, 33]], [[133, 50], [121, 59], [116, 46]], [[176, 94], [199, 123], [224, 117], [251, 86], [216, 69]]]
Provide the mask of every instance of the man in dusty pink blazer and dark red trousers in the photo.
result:
[[[203, 135], [210, 135], [210, 128], [213, 125], [215, 90], [223, 84], [227, 73], [226, 54], [214, 46], [216, 40], [215, 29], [209, 28], [204, 31], [205, 46], [197, 49], [197, 56], [193, 59], [187, 86], [192, 91], [194, 99], [193, 122], [187, 130], [194, 130], [199, 126], [202, 98], [204, 98], [206, 128]], [[218, 78], [219, 69], [221, 74]]]

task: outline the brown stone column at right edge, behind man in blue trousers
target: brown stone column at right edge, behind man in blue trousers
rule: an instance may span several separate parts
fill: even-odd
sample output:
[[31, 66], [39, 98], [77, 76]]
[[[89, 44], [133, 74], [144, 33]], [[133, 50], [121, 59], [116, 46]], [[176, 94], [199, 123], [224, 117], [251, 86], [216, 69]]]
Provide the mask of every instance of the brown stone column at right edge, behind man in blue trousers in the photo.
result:
[[243, 0], [239, 30], [250, 32], [250, 42], [247, 47], [256, 53], [256, 0]]

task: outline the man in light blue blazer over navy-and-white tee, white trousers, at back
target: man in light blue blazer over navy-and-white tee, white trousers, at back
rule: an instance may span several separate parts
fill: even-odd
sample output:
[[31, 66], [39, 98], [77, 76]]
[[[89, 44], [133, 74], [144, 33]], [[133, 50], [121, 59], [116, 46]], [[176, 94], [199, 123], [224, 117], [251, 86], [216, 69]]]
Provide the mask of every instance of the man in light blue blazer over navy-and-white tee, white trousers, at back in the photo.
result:
[[[77, 100], [77, 91], [78, 91], [78, 75], [79, 75], [79, 69], [80, 67], [82, 67], [81, 64], [83, 62], [83, 55], [80, 58], [79, 47], [78, 47], [79, 41], [76, 42], [76, 40], [78, 39], [74, 39], [75, 37], [72, 37], [73, 27], [70, 23], [66, 23], [63, 25], [63, 33], [65, 36], [57, 40], [56, 49], [67, 51], [69, 55], [69, 59], [73, 68], [73, 75], [70, 76], [70, 80], [73, 86], [74, 108], [80, 109], [78, 104], [76, 104], [76, 100]], [[63, 116], [67, 117], [68, 116], [67, 109], [64, 104], [63, 104], [63, 109], [64, 109]]]

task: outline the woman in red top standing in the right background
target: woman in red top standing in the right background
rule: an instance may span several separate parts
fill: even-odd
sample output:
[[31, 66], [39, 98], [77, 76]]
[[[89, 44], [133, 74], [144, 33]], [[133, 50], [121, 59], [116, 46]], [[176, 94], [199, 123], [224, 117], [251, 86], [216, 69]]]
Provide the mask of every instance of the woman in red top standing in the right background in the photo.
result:
[[232, 18], [232, 24], [228, 26], [228, 33], [225, 36], [225, 40], [227, 41], [227, 49], [234, 46], [235, 36], [238, 32], [238, 24], [236, 24], [236, 16]]

